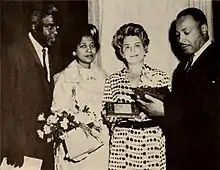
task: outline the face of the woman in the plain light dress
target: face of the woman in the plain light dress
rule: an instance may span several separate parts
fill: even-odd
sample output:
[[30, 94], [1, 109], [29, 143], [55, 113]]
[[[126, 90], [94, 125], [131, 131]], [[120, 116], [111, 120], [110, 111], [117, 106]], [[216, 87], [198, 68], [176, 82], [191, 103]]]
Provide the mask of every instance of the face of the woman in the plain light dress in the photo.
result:
[[91, 36], [83, 36], [76, 48], [77, 61], [85, 68], [90, 68], [90, 64], [95, 59], [96, 47]]

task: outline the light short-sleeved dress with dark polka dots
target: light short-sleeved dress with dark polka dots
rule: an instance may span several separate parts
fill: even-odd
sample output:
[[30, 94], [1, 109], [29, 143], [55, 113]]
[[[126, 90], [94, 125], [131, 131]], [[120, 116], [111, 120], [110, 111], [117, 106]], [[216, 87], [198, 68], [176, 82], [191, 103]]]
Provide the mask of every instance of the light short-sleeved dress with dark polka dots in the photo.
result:
[[[104, 89], [103, 114], [106, 102], [130, 103], [134, 100], [127, 68], [107, 77]], [[163, 87], [170, 89], [170, 79], [162, 71], [142, 66], [138, 87]], [[131, 122], [130, 122], [131, 123]], [[143, 123], [143, 122], [142, 122]], [[162, 170], [166, 169], [165, 137], [156, 126], [115, 127], [110, 141], [109, 170]]]

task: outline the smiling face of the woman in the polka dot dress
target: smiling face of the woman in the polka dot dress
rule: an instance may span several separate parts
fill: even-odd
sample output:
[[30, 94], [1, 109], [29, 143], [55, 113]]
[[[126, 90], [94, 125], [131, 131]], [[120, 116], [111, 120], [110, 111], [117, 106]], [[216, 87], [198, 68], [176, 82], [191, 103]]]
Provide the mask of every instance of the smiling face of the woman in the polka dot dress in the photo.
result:
[[126, 36], [124, 38], [122, 56], [127, 60], [128, 64], [143, 62], [145, 50], [138, 36]]

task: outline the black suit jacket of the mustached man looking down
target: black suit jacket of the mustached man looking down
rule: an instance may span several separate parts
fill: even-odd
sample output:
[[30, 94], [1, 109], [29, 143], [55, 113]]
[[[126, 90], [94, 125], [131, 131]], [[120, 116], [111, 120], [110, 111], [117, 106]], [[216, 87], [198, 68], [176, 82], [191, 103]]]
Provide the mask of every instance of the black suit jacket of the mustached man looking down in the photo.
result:
[[212, 43], [184, 71], [173, 74], [172, 92], [165, 100], [165, 132], [169, 169], [217, 170], [220, 134], [220, 54]]

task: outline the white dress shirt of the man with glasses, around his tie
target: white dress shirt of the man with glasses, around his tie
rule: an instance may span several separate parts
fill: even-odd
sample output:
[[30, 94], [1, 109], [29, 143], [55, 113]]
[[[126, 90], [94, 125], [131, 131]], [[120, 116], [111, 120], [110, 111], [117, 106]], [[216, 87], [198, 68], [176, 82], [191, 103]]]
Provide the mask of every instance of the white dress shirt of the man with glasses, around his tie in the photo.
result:
[[[34, 39], [31, 32], [28, 33], [28, 36], [37, 52], [37, 55], [40, 59], [41, 65], [44, 67], [43, 64], [43, 47]], [[44, 48], [46, 50], [46, 56], [45, 56], [45, 62], [46, 62], [46, 68], [47, 68], [47, 80], [50, 82], [50, 66], [49, 66], [49, 57], [48, 57], [48, 48]]]

